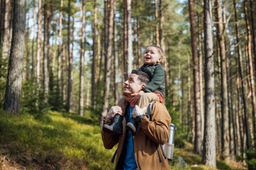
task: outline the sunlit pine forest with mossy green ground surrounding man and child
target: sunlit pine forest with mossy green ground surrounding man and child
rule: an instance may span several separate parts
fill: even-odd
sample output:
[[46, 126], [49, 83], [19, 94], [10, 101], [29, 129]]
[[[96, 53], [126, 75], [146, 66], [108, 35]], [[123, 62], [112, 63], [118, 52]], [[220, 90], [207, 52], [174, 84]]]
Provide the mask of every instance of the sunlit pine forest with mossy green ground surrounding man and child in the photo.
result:
[[256, 169], [254, 11], [254, 0], [0, 0], [0, 170], [114, 169], [103, 117], [152, 44], [177, 127], [170, 169]]

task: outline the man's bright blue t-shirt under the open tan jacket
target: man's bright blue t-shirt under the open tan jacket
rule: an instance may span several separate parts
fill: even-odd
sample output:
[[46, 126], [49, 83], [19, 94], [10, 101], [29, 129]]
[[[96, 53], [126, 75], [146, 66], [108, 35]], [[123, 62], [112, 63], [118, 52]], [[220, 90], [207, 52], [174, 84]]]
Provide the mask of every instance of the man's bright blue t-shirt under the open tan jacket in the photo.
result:
[[[131, 115], [133, 108], [134, 107], [129, 106], [130, 122], [132, 121], [132, 118], [133, 118], [133, 116]], [[134, 155], [133, 134], [131, 133], [131, 131], [128, 131], [125, 143], [126, 143], [126, 145], [125, 145], [125, 158], [124, 158], [124, 163], [123, 163], [123, 169], [124, 170], [136, 170], [137, 163], [136, 163], [135, 155]]]

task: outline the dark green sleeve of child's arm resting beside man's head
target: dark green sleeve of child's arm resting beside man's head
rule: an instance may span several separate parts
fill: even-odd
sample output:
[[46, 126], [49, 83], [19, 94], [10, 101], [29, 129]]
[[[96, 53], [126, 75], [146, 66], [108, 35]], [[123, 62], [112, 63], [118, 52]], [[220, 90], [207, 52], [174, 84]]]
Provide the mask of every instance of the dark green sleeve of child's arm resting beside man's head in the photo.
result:
[[153, 76], [150, 82], [142, 88], [144, 92], [154, 92], [164, 82], [164, 70], [161, 65], [156, 65]]

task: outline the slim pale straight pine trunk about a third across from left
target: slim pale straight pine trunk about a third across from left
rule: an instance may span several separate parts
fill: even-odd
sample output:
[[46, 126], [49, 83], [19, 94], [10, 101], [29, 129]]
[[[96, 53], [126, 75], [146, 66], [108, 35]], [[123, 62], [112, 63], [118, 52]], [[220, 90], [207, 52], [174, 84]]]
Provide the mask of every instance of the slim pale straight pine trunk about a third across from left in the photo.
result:
[[[96, 4], [96, 0], [95, 0]], [[97, 11], [96, 11], [97, 12]], [[80, 116], [84, 115], [84, 25], [85, 24], [85, 0], [82, 0], [82, 28], [80, 46], [80, 69], [79, 69], [79, 108]]]

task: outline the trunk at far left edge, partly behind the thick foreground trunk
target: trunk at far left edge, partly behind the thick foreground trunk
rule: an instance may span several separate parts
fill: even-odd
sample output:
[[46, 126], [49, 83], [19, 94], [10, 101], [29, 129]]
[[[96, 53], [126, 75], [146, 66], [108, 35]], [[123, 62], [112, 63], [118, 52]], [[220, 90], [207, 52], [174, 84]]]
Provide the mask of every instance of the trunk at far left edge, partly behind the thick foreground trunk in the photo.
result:
[[13, 33], [13, 3], [14, 0], [5, 0], [4, 10], [4, 32], [2, 44], [2, 59], [5, 60], [10, 55], [10, 47]]

